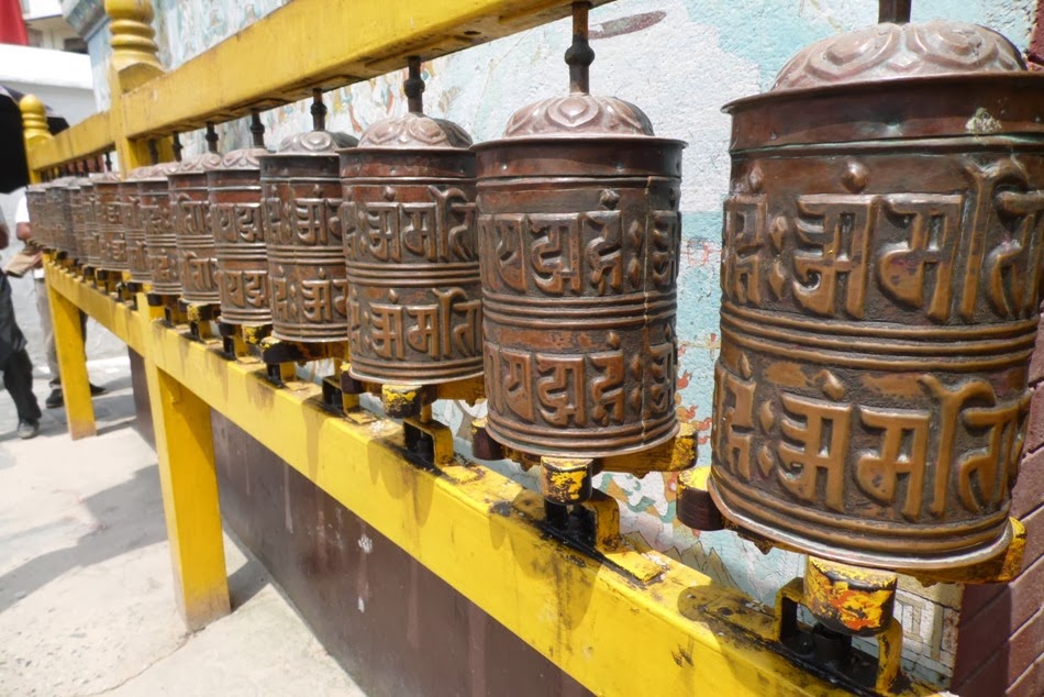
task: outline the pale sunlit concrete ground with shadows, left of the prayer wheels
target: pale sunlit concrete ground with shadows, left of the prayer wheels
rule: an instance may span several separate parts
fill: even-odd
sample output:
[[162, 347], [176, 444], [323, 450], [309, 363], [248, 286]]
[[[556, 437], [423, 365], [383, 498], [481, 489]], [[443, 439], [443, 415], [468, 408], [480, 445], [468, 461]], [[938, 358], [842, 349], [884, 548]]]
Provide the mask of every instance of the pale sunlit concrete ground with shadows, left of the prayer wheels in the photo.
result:
[[[132, 429], [126, 358], [90, 364], [109, 388], [99, 435], [63, 410], [21, 441], [0, 392], [0, 695], [344, 695], [359, 688], [260, 564], [225, 538], [233, 612], [195, 634], [177, 613], [156, 454]], [[46, 378], [38, 374], [43, 403]]]

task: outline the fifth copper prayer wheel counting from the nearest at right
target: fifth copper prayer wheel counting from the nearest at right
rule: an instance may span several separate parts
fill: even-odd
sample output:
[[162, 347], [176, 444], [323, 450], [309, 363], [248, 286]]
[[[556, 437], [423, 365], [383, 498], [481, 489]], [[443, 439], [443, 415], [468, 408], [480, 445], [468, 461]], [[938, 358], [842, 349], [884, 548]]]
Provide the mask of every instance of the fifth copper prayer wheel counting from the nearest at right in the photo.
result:
[[258, 159], [268, 151], [256, 111], [251, 131], [253, 147], [233, 151], [207, 170], [221, 320], [229, 324], [271, 323]]

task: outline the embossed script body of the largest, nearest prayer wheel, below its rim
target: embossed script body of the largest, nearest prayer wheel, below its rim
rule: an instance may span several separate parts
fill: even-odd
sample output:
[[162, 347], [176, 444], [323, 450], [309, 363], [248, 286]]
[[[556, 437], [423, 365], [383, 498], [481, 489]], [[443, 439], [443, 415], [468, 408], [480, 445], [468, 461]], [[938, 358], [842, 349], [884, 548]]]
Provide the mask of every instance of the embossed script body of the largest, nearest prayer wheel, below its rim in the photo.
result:
[[1042, 173], [1037, 154], [736, 158], [712, 429], [730, 516], [857, 563], [996, 553], [1030, 405]]

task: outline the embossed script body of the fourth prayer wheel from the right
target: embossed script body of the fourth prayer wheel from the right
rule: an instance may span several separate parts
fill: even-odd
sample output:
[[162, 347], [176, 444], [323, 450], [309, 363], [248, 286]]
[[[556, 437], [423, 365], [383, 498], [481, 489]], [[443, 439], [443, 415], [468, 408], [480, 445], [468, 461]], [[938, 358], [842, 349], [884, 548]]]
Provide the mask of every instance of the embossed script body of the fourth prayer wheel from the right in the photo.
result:
[[262, 189], [273, 334], [285, 341], [346, 341], [340, 181], [263, 179]]

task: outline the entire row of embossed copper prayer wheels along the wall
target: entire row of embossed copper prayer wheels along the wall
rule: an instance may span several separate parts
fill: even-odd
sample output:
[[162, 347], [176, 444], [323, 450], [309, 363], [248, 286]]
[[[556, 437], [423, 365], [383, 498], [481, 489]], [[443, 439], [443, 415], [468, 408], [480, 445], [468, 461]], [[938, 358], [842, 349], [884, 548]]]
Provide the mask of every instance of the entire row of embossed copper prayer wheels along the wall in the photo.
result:
[[[257, 130], [224, 156], [33, 187], [37, 234], [223, 322], [346, 342], [360, 381], [481, 376], [495, 441], [612, 468], [679, 433], [685, 144], [589, 93], [586, 12], [570, 93], [501, 140], [424, 115], [411, 60], [409, 113], [358, 143], [316, 101], [275, 153]], [[878, 568], [1009, 544], [1044, 279], [1042, 80], [995, 32], [900, 20], [815, 44], [728, 107], [708, 488], [734, 524]]]

